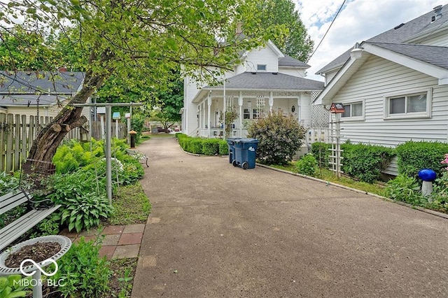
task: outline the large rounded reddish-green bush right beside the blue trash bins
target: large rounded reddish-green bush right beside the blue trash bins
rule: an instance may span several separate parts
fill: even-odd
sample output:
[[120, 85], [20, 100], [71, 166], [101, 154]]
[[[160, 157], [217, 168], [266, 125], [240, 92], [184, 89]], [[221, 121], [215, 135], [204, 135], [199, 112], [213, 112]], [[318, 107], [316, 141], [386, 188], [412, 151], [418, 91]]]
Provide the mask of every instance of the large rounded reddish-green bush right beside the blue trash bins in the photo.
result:
[[257, 157], [263, 164], [288, 164], [302, 145], [305, 129], [293, 116], [272, 113], [248, 127], [248, 137], [258, 139]]

